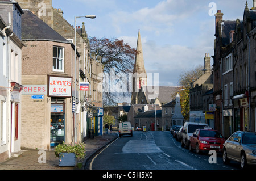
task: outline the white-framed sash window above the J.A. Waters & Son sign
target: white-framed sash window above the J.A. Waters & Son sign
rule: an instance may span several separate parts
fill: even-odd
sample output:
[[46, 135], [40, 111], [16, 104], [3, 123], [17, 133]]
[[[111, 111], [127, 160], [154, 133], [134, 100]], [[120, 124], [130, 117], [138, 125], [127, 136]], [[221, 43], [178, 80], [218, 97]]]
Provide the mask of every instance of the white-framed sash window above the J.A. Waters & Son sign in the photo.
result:
[[53, 47], [53, 71], [64, 72], [64, 48]]

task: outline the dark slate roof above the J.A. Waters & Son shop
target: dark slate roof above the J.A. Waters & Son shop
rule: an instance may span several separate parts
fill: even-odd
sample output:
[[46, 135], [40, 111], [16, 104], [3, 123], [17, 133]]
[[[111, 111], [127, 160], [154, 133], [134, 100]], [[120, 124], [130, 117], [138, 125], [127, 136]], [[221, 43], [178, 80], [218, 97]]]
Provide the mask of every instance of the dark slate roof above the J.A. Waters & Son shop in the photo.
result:
[[48, 26], [29, 10], [23, 10], [22, 15], [22, 40], [56, 41], [71, 44], [63, 36]]

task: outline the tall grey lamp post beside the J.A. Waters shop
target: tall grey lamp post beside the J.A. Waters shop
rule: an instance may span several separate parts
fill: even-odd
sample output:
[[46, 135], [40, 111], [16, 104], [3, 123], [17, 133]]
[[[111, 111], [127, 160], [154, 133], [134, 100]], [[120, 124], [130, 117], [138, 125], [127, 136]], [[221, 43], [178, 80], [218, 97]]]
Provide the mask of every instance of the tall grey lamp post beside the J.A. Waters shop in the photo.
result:
[[[90, 18], [94, 19], [96, 18], [96, 15], [87, 15], [87, 16], [75, 16], [75, 106], [76, 106], [76, 19], [77, 18]], [[75, 130], [74, 130], [74, 141], [77, 142], [77, 128], [76, 128], [76, 110], [75, 110]]]

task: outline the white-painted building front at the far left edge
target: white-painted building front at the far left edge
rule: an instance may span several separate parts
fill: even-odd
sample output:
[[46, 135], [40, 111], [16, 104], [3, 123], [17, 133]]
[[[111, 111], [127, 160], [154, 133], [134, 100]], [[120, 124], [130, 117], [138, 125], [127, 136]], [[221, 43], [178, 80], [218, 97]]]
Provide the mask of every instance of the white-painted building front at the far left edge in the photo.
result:
[[22, 15], [18, 3], [0, 2], [0, 161], [18, 156], [21, 150]]

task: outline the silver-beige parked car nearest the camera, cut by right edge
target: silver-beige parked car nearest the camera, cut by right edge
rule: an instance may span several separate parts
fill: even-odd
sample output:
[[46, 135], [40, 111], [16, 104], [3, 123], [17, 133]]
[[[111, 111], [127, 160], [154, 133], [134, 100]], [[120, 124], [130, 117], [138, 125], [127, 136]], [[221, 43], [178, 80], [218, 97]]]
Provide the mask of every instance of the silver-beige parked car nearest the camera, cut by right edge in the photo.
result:
[[241, 169], [256, 165], [256, 132], [234, 132], [224, 143], [222, 159], [240, 162]]

